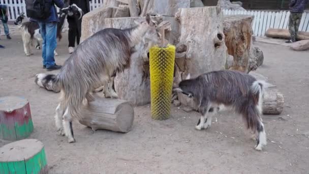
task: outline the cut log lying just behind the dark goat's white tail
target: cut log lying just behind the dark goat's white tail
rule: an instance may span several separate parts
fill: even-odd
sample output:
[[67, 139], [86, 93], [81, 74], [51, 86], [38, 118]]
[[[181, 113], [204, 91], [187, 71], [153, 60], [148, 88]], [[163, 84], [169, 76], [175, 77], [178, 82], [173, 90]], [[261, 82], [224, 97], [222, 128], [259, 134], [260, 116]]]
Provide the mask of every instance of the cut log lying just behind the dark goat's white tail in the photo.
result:
[[281, 114], [283, 111], [284, 97], [276, 87], [265, 89], [263, 100], [263, 114]]

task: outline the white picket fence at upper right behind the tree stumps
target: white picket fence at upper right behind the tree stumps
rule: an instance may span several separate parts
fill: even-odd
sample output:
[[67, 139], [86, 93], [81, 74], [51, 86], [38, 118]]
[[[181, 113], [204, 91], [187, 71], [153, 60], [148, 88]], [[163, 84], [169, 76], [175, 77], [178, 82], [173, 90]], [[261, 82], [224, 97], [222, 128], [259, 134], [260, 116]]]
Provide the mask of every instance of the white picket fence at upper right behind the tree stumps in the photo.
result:
[[[224, 15], [253, 15], [254, 20], [252, 29], [255, 36], [265, 36], [268, 28], [283, 28], [289, 27], [289, 11], [244, 11], [244, 10], [223, 10]], [[309, 32], [309, 13], [304, 12], [299, 24], [299, 31]]]

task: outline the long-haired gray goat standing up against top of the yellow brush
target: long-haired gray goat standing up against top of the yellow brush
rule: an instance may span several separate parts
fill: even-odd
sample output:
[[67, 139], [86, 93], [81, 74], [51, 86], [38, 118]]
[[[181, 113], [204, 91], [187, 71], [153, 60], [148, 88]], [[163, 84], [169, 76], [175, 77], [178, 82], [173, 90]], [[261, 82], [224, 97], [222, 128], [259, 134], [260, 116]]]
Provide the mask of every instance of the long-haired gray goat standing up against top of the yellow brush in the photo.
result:
[[35, 82], [39, 86], [45, 89], [60, 86], [61, 98], [55, 114], [60, 134], [66, 135], [69, 142], [75, 142], [72, 119], [81, 119], [81, 106], [94, 100], [92, 91], [102, 84], [108, 88], [111, 78], [129, 66], [135, 45], [147, 40], [150, 47], [159, 39], [157, 23], [147, 15], [146, 21], [135, 27], [105, 28], [90, 36], [77, 46], [57, 75], [37, 74]]

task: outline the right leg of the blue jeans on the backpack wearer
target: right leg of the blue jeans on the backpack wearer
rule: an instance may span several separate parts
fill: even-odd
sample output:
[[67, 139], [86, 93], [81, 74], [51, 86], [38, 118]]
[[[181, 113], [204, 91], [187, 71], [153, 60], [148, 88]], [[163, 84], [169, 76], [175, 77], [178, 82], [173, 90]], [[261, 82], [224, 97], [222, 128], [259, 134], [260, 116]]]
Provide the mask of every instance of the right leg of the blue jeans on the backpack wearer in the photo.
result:
[[57, 46], [57, 23], [46, 23], [46, 68], [55, 66], [54, 51]]

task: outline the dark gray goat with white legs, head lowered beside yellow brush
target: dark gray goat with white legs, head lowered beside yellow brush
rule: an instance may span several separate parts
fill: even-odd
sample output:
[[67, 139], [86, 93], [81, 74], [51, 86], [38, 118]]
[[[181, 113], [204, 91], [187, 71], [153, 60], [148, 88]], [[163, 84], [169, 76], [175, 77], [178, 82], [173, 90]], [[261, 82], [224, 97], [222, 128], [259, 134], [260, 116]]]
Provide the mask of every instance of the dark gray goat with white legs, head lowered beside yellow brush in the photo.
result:
[[[189, 77], [190, 78], [190, 77]], [[207, 129], [211, 117], [224, 107], [242, 115], [246, 127], [254, 132], [256, 150], [267, 144], [262, 123], [263, 93], [267, 83], [239, 71], [221, 70], [202, 74], [179, 83], [175, 92], [193, 97], [202, 114], [196, 129]]]

